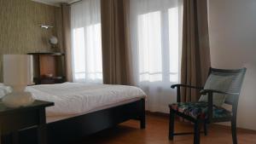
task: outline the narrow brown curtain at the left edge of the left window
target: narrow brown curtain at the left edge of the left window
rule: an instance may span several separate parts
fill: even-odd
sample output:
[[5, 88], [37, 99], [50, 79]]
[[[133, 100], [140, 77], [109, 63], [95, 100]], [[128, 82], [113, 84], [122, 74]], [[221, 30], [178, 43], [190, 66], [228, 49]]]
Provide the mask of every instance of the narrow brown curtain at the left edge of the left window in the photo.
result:
[[61, 47], [65, 52], [66, 77], [68, 82], [73, 81], [72, 76], [72, 58], [71, 58], [71, 16], [70, 5], [61, 4]]

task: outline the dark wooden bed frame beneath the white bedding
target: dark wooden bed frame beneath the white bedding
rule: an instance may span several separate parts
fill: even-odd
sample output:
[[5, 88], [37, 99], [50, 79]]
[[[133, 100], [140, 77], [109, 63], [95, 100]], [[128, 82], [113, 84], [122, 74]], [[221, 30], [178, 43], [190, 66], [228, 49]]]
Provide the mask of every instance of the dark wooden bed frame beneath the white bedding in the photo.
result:
[[[144, 99], [49, 123], [47, 124], [48, 144], [72, 143], [130, 119], [139, 120], [140, 128], [145, 128]], [[35, 144], [37, 141], [35, 130], [35, 128], [21, 130], [20, 143]]]

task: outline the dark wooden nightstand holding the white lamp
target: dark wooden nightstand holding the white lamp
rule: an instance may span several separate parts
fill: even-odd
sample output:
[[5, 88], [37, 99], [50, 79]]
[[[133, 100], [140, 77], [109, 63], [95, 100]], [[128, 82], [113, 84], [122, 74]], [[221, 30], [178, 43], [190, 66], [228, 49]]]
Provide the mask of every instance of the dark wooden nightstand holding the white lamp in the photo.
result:
[[34, 101], [28, 107], [9, 108], [0, 101], [1, 144], [7, 143], [5, 137], [11, 135], [13, 144], [20, 143], [19, 130], [32, 126], [38, 129], [38, 144], [47, 143], [45, 107], [54, 106], [53, 102]]

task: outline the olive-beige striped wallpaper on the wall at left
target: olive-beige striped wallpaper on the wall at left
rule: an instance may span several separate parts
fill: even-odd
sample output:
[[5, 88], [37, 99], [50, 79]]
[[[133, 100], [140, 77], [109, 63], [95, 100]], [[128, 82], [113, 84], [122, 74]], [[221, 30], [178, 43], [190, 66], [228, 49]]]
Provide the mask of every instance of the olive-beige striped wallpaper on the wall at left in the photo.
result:
[[[51, 51], [48, 38], [56, 36], [55, 15], [60, 8], [30, 0], [0, 0], [0, 82], [3, 55]], [[48, 30], [39, 24], [55, 26]]]

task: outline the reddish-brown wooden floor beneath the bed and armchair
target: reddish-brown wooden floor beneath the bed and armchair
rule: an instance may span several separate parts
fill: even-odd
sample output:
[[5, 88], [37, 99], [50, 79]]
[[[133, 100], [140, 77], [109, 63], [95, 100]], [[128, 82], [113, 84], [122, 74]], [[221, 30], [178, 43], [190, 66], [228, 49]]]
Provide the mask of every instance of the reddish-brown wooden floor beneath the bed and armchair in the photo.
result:
[[[193, 130], [192, 124], [177, 121], [175, 126], [177, 132]], [[167, 117], [149, 114], [145, 130], [140, 130], [137, 121], [131, 120], [73, 144], [193, 144], [193, 135], [175, 136], [174, 141], [168, 141], [167, 128]], [[256, 132], [238, 130], [238, 143], [256, 144]], [[201, 134], [201, 144], [232, 144], [230, 128], [220, 125], [210, 126], [209, 135]]]

